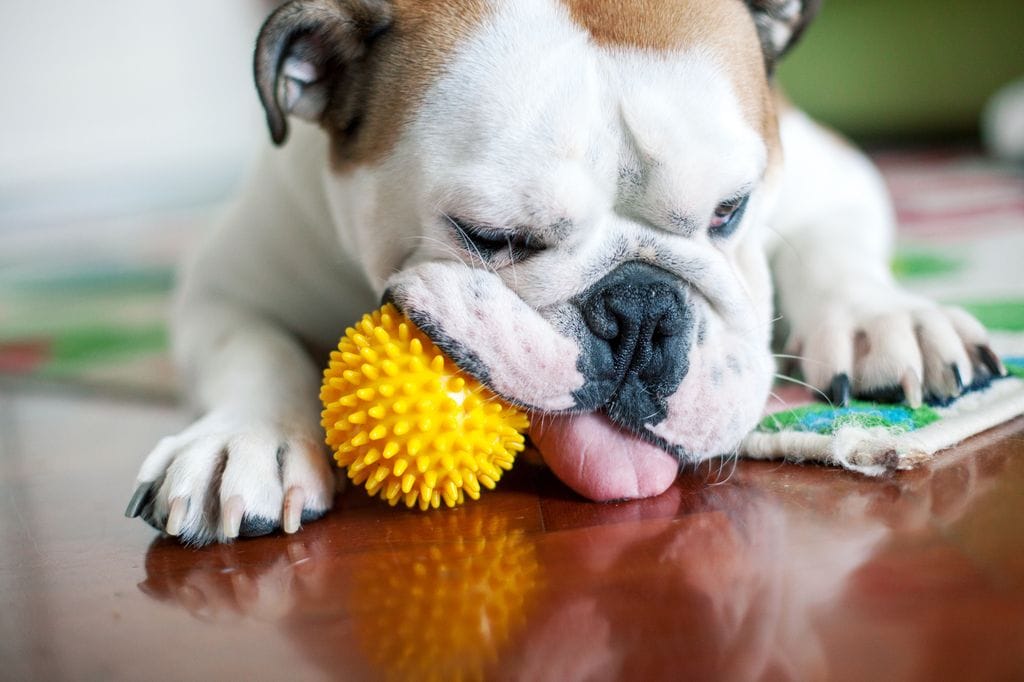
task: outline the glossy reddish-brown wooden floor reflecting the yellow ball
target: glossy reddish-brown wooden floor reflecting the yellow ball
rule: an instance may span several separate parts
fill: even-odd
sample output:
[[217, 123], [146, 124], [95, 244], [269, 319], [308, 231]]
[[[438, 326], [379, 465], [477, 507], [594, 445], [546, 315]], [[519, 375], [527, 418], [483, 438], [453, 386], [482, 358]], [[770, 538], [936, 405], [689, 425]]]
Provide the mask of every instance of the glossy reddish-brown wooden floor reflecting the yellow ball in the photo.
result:
[[599, 505], [520, 464], [203, 550], [122, 516], [184, 421], [0, 390], [0, 679], [1024, 678], [1024, 420], [884, 480], [716, 464]]

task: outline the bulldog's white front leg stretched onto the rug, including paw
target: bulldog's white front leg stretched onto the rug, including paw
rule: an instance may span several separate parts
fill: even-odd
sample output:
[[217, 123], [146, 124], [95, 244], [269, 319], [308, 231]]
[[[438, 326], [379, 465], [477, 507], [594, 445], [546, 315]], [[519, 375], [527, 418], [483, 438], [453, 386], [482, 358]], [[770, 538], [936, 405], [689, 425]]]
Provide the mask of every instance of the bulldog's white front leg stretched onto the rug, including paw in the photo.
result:
[[781, 117], [784, 171], [772, 266], [786, 349], [836, 403], [944, 400], [1002, 369], [982, 326], [900, 287], [893, 214], [860, 153], [800, 112]]

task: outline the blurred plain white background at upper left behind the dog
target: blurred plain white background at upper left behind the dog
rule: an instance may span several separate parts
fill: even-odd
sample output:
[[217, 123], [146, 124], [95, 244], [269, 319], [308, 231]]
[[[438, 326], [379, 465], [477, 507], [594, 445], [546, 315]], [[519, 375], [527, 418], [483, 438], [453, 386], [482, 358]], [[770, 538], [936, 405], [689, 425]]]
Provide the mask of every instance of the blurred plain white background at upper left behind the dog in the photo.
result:
[[0, 229], [216, 201], [261, 115], [265, 3], [8, 0], [0, 23]]

